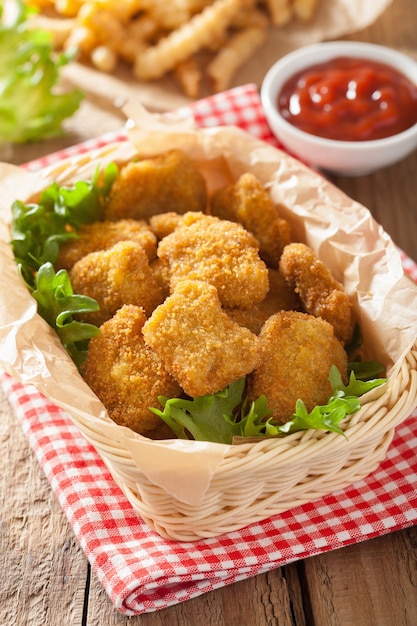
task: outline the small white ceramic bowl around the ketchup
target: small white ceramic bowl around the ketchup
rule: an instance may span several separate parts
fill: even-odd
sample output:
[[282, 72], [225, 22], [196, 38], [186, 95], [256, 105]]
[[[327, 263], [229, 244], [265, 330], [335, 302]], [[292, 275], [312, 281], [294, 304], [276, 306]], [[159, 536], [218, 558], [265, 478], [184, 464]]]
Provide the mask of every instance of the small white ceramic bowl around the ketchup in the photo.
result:
[[277, 110], [277, 98], [284, 83], [304, 68], [336, 57], [360, 57], [385, 63], [417, 84], [417, 63], [410, 57], [370, 43], [334, 41], [305, 46], [282, 57], [267, 72], [261, 86], [261, 100], [274, 135], [295, 156], [329, 172], [360, 176], [391, 165], [417, 148], [417, 124], [372, 141], [324, 139], [299, 130]]

